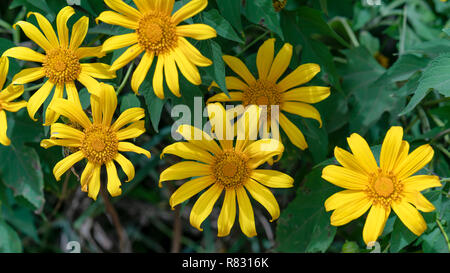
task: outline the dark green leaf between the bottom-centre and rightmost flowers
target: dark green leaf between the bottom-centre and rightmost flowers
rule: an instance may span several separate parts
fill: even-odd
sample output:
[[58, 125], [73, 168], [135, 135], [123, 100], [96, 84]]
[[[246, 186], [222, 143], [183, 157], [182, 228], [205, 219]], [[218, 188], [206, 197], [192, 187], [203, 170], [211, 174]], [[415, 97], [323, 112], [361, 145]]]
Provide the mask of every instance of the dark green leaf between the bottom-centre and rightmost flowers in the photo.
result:
[[336, 187], [321, 179], [322, 168], [306, 176], [306, 183], [278, 220], [276, 238], [280, 252], [325, 252], [336, 234], [324, 202]]

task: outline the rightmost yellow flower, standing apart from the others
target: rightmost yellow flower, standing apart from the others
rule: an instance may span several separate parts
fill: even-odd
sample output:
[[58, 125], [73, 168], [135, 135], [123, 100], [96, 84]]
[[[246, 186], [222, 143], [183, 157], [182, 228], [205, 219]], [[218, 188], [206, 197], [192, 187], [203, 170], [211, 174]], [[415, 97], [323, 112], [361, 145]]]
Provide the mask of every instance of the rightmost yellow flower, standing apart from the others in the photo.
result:
[[402, 127], [394, 126], [387, 132], [378, 167], [364, 138], [352, 134], [347, 141], [353, 154], [336, 147], [334, 155], [342, 167], [330, 165], [323, 169], [323, 179], [346, 189], [325, 201], [326, 210], [334, 210], [331, 215], [333, 226], [345, 225], [370, 208], [363, 230], [366, 244], [375, 242], [381, 235], [391, 208], [417, 236], [427, 228], [417, 210], [434, 210], [420, 192], [441, 186], [439, 177], [412, 176], [431, 161], [433, 149], [427, 144], [408, 154], [409, 144], [402, 138]]

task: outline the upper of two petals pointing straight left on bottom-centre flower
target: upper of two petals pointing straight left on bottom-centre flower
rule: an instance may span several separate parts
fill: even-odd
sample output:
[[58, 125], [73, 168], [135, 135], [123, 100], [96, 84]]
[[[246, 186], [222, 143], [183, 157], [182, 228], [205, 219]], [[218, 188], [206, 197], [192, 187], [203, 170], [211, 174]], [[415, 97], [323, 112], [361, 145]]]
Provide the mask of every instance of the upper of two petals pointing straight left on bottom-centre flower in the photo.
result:
[[176, 155], [187, 160], [201, 161], [206, 164], [214, 162], [214, 157], [210, 153], [189, 142], [176, 142], [171, 144], [161, 152], [161, 158], [165, 154]]

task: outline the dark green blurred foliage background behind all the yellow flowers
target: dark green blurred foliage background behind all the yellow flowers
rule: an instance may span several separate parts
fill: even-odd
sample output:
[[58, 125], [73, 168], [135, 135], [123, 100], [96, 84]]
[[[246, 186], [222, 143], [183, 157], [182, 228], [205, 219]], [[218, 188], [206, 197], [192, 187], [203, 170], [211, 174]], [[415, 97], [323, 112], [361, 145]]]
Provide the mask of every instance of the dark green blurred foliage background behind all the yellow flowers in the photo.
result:
[[[175, 8], [187, 2], [176, 1]], [[103, 198], [94, 202], [80, 191], [78, 169], [55, 181], [52, 168], [67, 151], [40, 148], [39, 141], [49, 131], [41, 126], [42, 117], [33, 122], [26, 110], [8, 115], [12, 145], [0, 146], [0, 251], [66, 252], [67, 242], [78, 241], [82, 252], [368, 252], [362, 241], [365, 217], [343, 227], [330, 226], [323, 203], [338, 188], [320, 178], [321, 170], [335, 163], [335, 146], [348, 148], [346, 138], [351, 133], [364, 136], [379, 154], [386, 131], [401, 125], [411, 148], [433, 146], [434, 159], [423, 172], [439, 175], [443, 187], [425, 193], [436, 207], [423, 213], [428, 224], [425, 233], [418, 238], [391, 214], [379, 239], [381, 251], [449, 252], [450, 3], [383, 0], [381, 5], [370, 5], [377, 2], [288, 0], [284, 9], [276, 11], [272, 0], [210, 0], [207, 9], [189, 22], [211, 25], [218, 33], [216, 39], [193, 42], [214, 61], [211, 67], [201, 68], [203, 85], [193, 86], [180, 77], [183, 96], [166, 92], [166, 99], [159, 100], [148, 76], [145, 91], [135, 96], [126, 80], [133, 64], [109, 81], [118, 89], [121, 111], [134, 106], [147, 110], [148, 132], [138, 143], [152, 152], [150, 160], [127, 155], [137, 168], [136, 177], [109, 202]], [[77, 11], [69, 25], [82, 15], [90, 18], [87, 45], [100, 45], [107, 37], [127, 31], [95, 24], [94, 19], [107, 10], [102, 0], [9, 0], [0, 12], [0, 53], [18, 45], [36, 49], [12, 25], [25, 20], [29, 11], [54, 21], [68, 4]], [[33, 17], [27, 20], [37, 25]], [[254, 72], [256, 52], [270, 37], [277, 38], [278, 48], [284, 42], [294, 46], [291, 69], [307, 62], [321, 66], [322, 72], [309, 84], [332, 88], [331, 96], [316, 105], [324, 125], [319, 128], [313, 120], [289, 117], [304, 132], [309, 149], [300, 151], [283, 141], [286, 151], [274, 168], [294, 177], [295, 186], [274, 191], [282, 209], [280, 219], [270, 223], [264, 208], [253, 202], [258, 236], [245, 237], [235, 224], [230, 236], [217, 238], [218, 207], [199, 232], [189, 225], [193, 200], [170, 209], [169, 196], [180, 182], [157, 186], [159, 173], [179, 160], [159, 159], [161, 150], [173, 142], [170, 111], [177, 104], [192, 106], [194, 96], [205, 101], [212, 95], [207, 87], [213, 80], [227, 92], [222, 54], [242, 58]], [[121, 52], [101, 61], [111, 64]], [[9, 81], [33, 65], [10, 62]], [[26, 86], [25, 99], [36, 88]], [[87, 109], [89, 94], [79, 91]]]

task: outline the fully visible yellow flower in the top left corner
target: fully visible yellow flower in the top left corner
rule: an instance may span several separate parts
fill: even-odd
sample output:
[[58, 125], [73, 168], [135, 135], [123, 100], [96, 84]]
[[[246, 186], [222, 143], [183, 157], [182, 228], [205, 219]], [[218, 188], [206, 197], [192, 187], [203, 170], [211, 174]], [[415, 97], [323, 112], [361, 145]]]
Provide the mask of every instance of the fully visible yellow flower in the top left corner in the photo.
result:
[[[99, 89], [96, 79], [111, 79], [115, 73], [109, 71], [109, 65], [103, 63], [80, 63], [81, 59], [88, 57], [102, 57], [101, 47], [80, 47], [88, 30], [89, 18], [81, 17], [72, 28], [69, 41], [69, 29], [67, 20], [75, 13], [72, 7], [61, 9], [56, 17], [58, 37], [50, 22], [37, 12], [30, 12], [28, 16], [34, 15], [39, 27], [29, 22], [19, 21], [14, 27], [20, 26], [25, 35], [44, 49], [45, 54], [38, 53], [27, 47], [13, 47], [3, 53], [4, 56], [20, 60], [38, 62], [39, 67], [27, 68], [14, 76], [14, 84], [26, 84], [41, 78], [46, 78], [43, 86], [37, 90], [28, 101], [27, 109], [30, 117], [34, 116], [41, 105], [50, 95], [54, 86], [55, 93], [52, 102], [63, 97], [64, 87], [67, 97], [71, 101], [78, 101], [78, 91], [75, 80], [87, 87], [89, 92]], [[50, 104], [51, 104], [50, 103]], [[58, 115], [52, 110], [45, 114], [45, 125], [50, 125], [58, 119]]]

